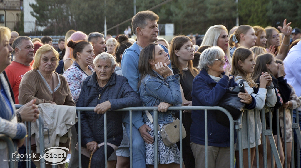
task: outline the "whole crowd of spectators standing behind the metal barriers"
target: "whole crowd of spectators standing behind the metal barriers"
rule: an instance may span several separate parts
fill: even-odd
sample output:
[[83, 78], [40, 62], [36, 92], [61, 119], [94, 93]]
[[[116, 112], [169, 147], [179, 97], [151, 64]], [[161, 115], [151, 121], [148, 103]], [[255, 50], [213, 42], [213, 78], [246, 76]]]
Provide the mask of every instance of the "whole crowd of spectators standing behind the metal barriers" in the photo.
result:
[[[203, 39], [199, 35], [178, 35], [169, 43], [158, 38], [158, 20], [159, 16], [152, 11], [138, 12], [132, 18], [132, 26], [116, 38], [99, 32], [87, 35], [69, 30], [65, 39], [59, 39], [57, 50], [49, 36], [30, 39], [0, 26], [0, 133], [18, 142], [19, 153], [25, 154], [23, 141], [27, 129], [22, 122], [35, 122], [41, 104], [95, 107], [94, 111], [81, 111], [78, 116], [81, 146], [77, 144], [77, 123], [70, 126], [71, 134], [62, 135], [58, 142], [71, 151], [68, 167], [79, 166], [79, 148], [83, 167], [104, 167], [106, 163], [112, 168], [129, 167], [130, 125], [133, 167], [153, 167], [154, 111], [133, 111], [130, 123], [128, 111], [116, 110], [156, 106], [159, 167], [204, 167], [205, 155], [208, 167], [230, 167], [231, 130], [219, 122], [222, 112], [207, 112], [208, 153], [205, 153], [204, 110], [183, 111], [187, 133], [182, 145], [183, 158], [180, 158], [180, 144], [165, 145], [160, 129], [179, 118], [179, 111], [168, 107], [216, 106], [229, 88], [243, 82], [245, 90], [237, 97], [246, 104], [247, 111], [242, 115], [242, 141], [236, 142], [234, 135], [236, 160], [240, 160], [238, 143], [242, 143], [239, 145], [243, 148], [244, 167], [255, 166], [258, 144], [259, 165], [263, 167], [264, 137], [259, 110], [271, 107], [273, 114], [279, 110], [281, 164], [284, 166], [286, 136], [290, 167], [292, 142], [296, 138], [292, 123], [296, 113], [301, 117], [301, 111], [294, 110], [292, 121], [289, 111], [301, 105], [298, 98], [301, 96], [301, 30], [292, 29], [286, 19], [278, 29], [240, 25], [228, 33], [225, 26], [214, 25], [207, 29]], [[134, 42], [129, 38], [131, 33], [136, 36]], [[16, 110], [14, 104], [24, 105]], [[104, 157], [106, 112], [107, 160]], [[266, 115], [266, 128], [273, 130], [276, 143], [277, 122], [276, 115], [272, 118]], [[273, 167], [275, 159], [271, 161], [269, 146], [268, 167]], [[8, 167], [3, 161], [8, 155], [7, 146], [2, 141], [0, 151], [0, 164]], [[299, 152], [299, 147], [295, 151]], [[32, 153], [39, 151], [34, 148]], [[22, 162], [18, 164], [24, 166]], [[39, 167], [39, 161], [34, 164]]]

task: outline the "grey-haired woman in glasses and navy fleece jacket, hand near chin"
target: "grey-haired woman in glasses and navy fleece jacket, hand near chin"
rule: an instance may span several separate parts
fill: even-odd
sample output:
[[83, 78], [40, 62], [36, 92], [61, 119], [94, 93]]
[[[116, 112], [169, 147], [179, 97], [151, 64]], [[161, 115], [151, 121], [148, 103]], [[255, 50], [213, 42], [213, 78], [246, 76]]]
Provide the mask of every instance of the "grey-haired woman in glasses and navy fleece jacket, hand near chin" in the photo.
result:
[[[192, 105], [216, 106], [228, 88], [237, 86], [233, 76], [229, 75], [229, 66], [224, 69], [224, 65], [225, 53], [220, 47], [213, 46], [202, 52], [199, 61], [201, 71], [192, 83]], [[255, 107], [256, 103], [251, 95], [239, 93], [238, 97], [248, 104], [248, 109]], [[208, 167], [230, 167], [230, 129], [217, 122], [216, 118], [221, 114], [222, 112], [217, 110], [207, 112]], [[191, 112], [190, 140], [195, 167], [204, 167], [205, 163], [204, 117], [204, 110]]]

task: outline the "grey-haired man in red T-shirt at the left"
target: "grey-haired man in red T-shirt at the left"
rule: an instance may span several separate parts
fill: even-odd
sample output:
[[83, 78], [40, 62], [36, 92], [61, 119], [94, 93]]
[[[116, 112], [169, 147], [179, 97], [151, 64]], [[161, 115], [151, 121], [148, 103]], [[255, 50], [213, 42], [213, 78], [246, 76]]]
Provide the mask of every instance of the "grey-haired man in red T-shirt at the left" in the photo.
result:
[[33, 42], [29, 37], [20, 36], [14, 40], [12, 47], [14, 49], [14, 60], [5, 69], [5, 72], [13, 89], [16, 104], [19, 104], [18, 96], [21, 79], [26, 72], [33, 69], [29, 65], [34, 57]]

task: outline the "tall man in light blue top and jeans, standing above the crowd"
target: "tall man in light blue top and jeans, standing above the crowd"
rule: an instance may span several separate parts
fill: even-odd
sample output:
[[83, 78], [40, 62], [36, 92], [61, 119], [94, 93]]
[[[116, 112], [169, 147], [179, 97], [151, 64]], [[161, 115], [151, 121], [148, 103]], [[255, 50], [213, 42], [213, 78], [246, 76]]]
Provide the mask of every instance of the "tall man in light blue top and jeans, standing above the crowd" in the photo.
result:
[[[140, 78], [138, 70], [140, 51], [148, 44], [155, 42], [158, 39], [158, 24], [159, 16], [152, 11], [138, 12], [132, 19], [132, 30], [137, 36], [137, 41], [127, 48], [121, 60], [121, 69], [123, 76], [128, 79], [130, 86], [139, 93], [138, 81]], [[163, 45], [160, 45], [165, 52], [168, 50]], [[171, 65], [169, 64], [171, 68]], [[126, 114], [123, 122], [125, 123], [127, 134], [129, 135], [129, 113]], [[132, 115], [132, 137], [133, 137], [133, 167], [145, 167], [145, 143], [153, 143], [154, 139], [147, 133], [151, 130], [149, 126], [143, 123], [141, 111], [134, 111]]]

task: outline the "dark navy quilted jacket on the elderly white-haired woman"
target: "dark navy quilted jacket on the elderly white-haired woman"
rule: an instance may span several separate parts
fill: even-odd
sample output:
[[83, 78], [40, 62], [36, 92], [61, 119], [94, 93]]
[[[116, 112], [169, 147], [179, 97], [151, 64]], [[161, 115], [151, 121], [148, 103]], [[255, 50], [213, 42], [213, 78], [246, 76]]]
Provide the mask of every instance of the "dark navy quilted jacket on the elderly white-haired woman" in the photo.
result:
[[[104, 86], [99, 100], [96, 77], [96, 73], [93, 73], [82, 82], [82, 90], [76, 106], [95, 107], [97, 104], [109, 100], [111, 111], [107, 112], [107, 142], [119, 146], [123, 138], [122, 112], [114, 110], [139, 106], [141, 101], [127, 79], [116, 73], [112, 74]], [[104, 114], [81, 111], [80, 117], [82, 146], [86, 147], [86, 144], [91, 141], [96, 141], [98, 144], [104, 142]]]

